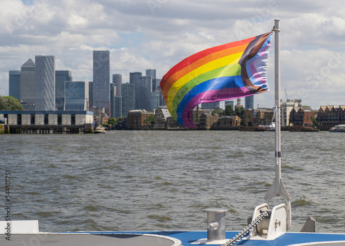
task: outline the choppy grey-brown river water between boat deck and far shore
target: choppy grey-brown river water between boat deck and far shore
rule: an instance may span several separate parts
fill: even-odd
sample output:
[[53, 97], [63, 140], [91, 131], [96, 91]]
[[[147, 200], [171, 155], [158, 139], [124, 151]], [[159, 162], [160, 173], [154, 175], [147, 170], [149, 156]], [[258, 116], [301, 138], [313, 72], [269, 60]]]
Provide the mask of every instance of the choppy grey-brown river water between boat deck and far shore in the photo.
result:
[[[275, 176], [274, 132], [112, 131], [0, 141], [0, 205], [10, 170], [12, 220], [38, 219], [43, 232], [204, 230], [208, 207], [228, 209], [226, 229], [239, 230]], [[313, 216], [318, 232], [345, 232], [344, 153], [345, 134], [282, 132], [293, 231]]]

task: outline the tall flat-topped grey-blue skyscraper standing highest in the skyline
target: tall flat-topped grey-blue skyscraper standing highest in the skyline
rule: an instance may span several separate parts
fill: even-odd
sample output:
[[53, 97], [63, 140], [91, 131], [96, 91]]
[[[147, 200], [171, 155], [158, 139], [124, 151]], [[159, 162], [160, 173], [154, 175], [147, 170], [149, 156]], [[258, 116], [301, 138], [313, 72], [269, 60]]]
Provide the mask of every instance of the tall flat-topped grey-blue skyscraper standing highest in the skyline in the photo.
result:
[[110, 51], [93, 51], [92, 106], [104, 107], [110, 116]]

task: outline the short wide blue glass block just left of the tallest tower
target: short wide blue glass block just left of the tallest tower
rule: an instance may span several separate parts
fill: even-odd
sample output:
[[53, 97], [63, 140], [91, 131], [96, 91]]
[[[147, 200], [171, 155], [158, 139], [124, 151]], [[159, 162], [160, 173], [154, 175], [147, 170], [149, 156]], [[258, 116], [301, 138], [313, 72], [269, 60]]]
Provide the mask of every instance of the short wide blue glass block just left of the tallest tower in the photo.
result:
[[86, 111], [89, 103], [88, 81], [66, 81], [65, 105], [66, 111]]

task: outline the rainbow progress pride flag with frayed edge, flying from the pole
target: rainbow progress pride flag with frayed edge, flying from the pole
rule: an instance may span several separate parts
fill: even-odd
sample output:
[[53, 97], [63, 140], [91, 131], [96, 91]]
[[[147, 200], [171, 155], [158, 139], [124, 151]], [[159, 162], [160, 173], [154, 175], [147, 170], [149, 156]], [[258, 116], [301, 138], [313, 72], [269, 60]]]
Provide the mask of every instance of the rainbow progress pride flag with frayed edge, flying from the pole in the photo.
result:
[[267, 58], [272, 32], [197, 52], [161, 79], [166, 106], [178, 123], [191, 119], [200, 103], [214, 103], [268, 91]]

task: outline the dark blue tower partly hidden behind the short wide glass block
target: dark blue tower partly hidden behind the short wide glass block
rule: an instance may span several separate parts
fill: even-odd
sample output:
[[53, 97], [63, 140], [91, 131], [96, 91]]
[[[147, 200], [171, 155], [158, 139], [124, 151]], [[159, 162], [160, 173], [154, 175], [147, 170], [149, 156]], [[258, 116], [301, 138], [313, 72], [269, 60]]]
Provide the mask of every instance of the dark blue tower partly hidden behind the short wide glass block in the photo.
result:
[[72, 81], [72, 72], [65, 70], [55, 71], [55, 107], [65, 110], [65, 82]]

